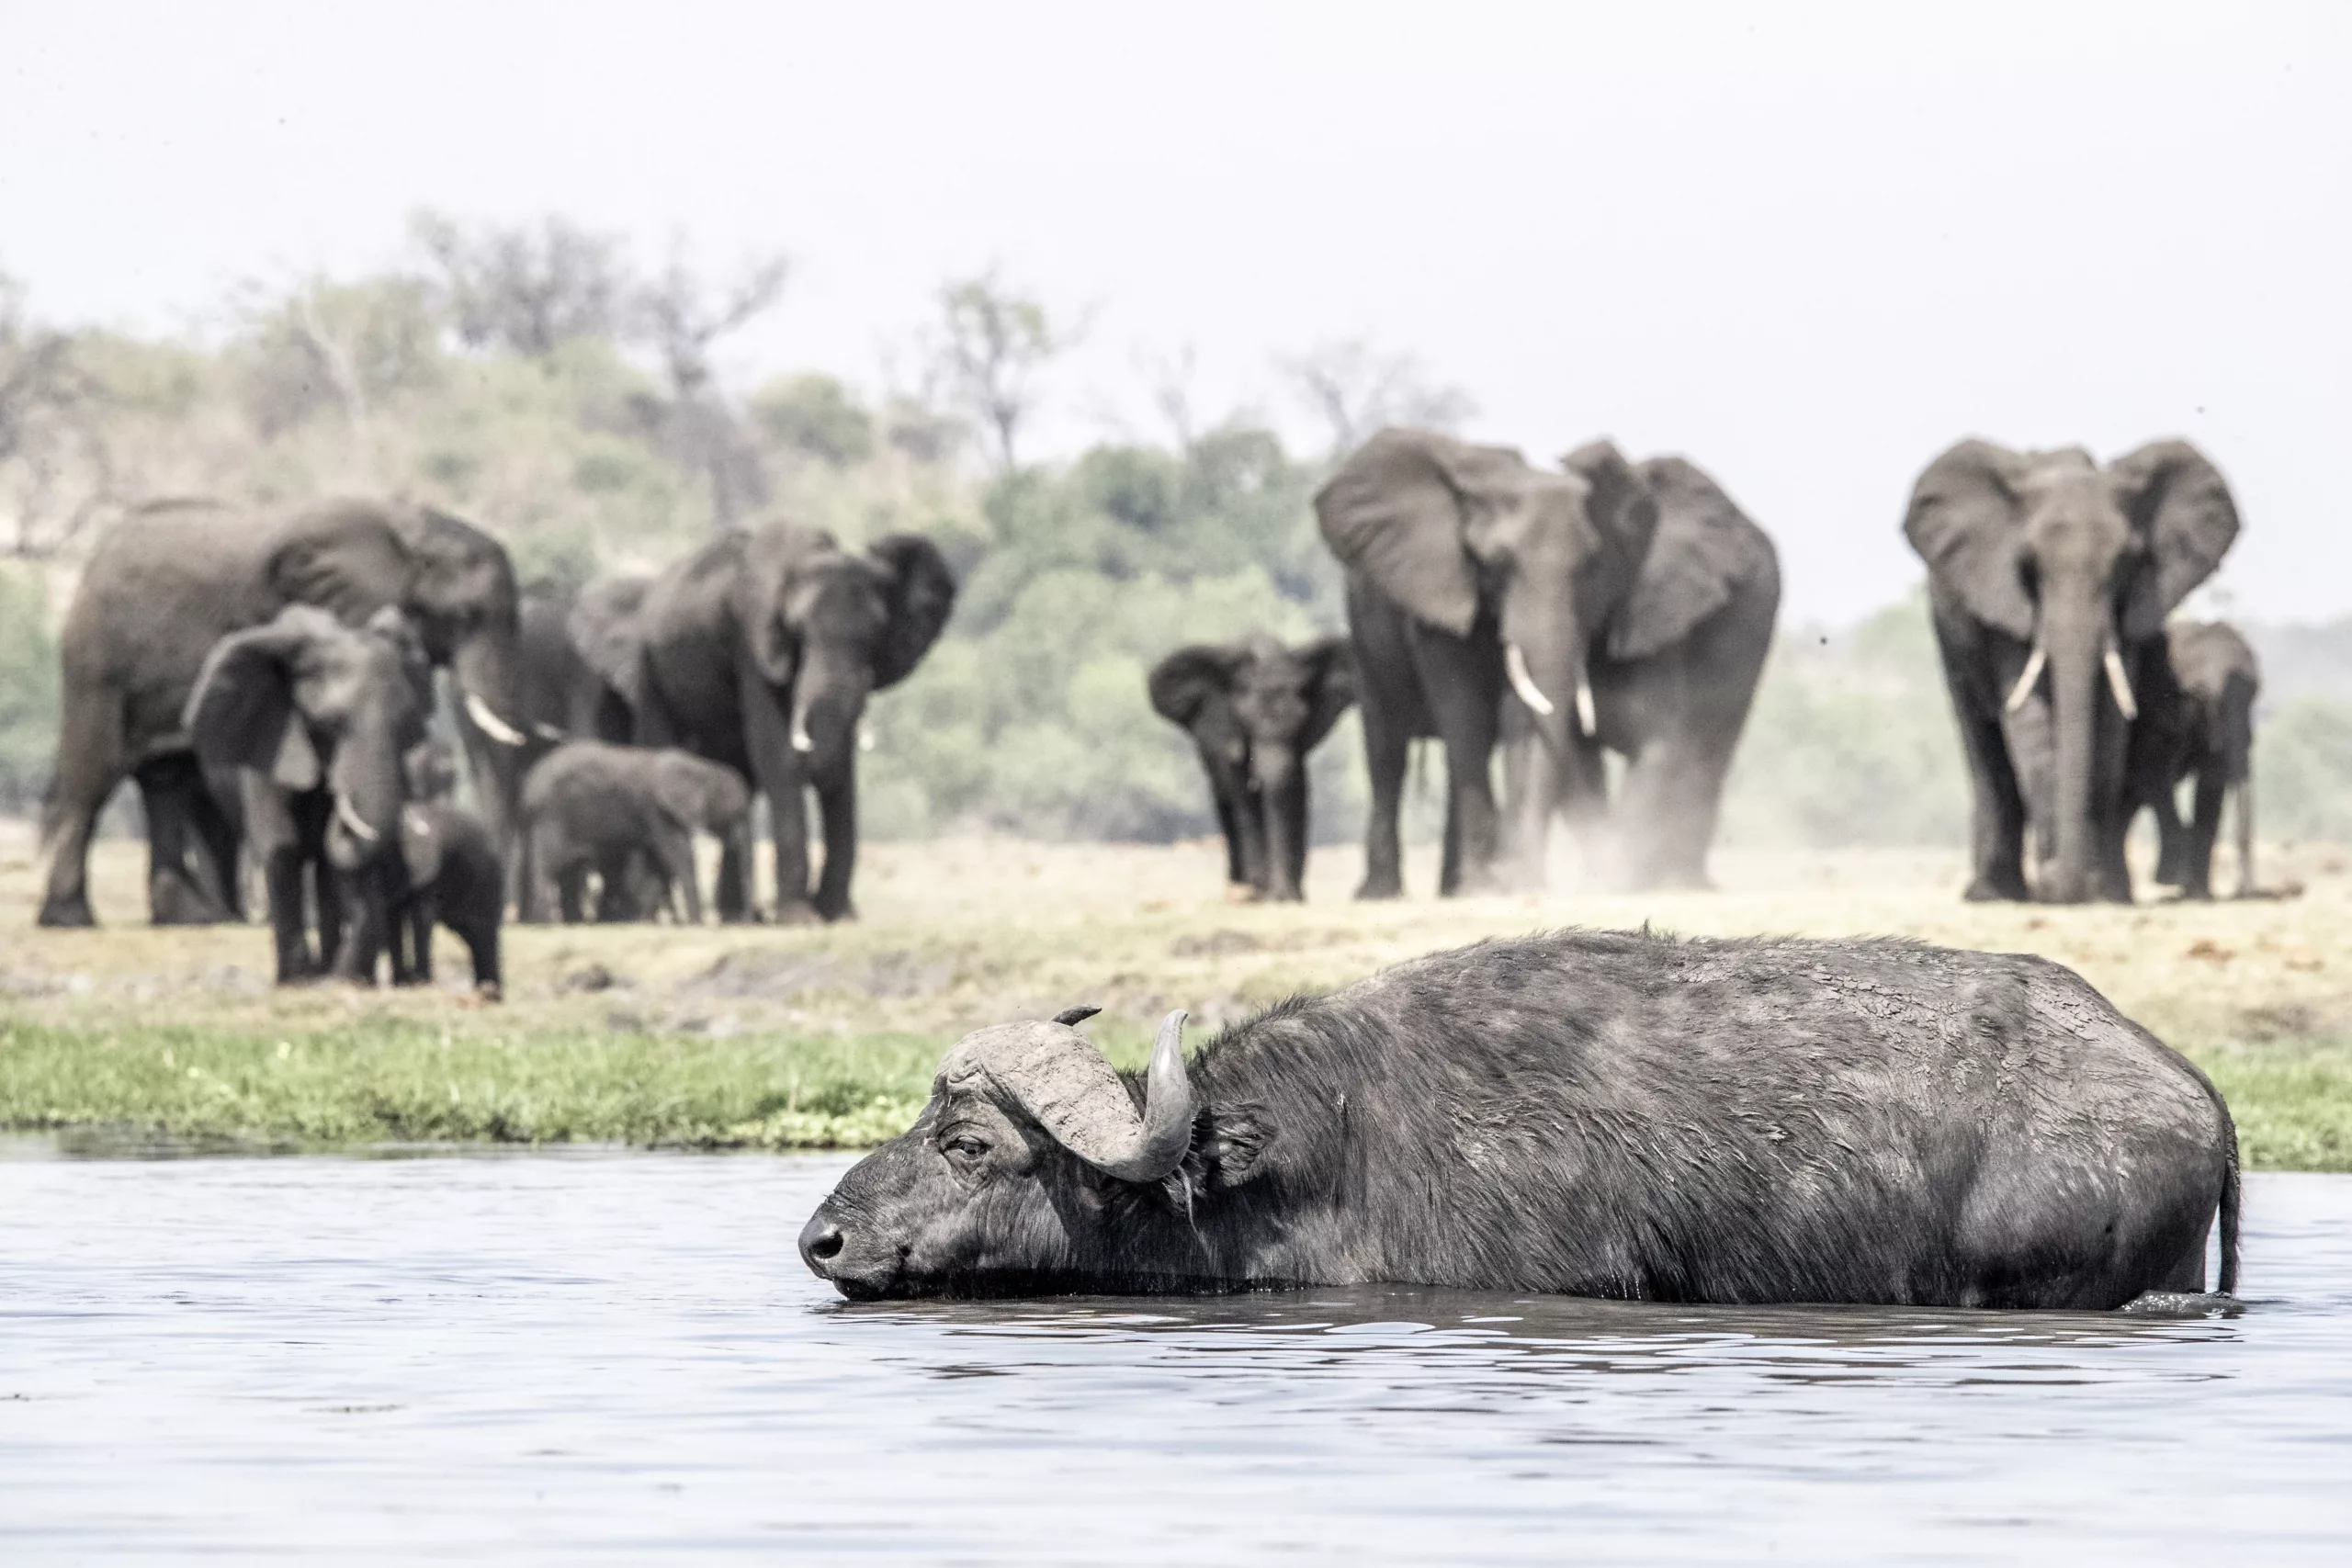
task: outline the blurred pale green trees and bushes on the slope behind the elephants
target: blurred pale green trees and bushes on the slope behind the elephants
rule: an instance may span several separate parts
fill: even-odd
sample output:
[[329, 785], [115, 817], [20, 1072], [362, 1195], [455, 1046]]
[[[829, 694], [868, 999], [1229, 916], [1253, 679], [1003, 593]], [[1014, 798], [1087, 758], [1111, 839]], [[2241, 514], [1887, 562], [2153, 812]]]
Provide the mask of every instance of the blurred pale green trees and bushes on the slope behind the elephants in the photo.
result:
[[[906, 386], [807, 369], [731, 388], [715, 362], [783, 296], [783, 259], [722, 277], [680, 256], [640, 268], [562, 219], [421, 214], [412, 233], [407, 268], [252, 282], [181, 336], [42, 327], [0, 277], [0, 811], [38, 809], [56, 623], [111, 517], [167, 494], [266, 510], [383, 491], [482, 522], [527, 585], [557, 595], [769, 515], [851, 543], [924, 531], [964, 588], [924, 665], [873, 705], [868, 832], [1209, 835], [1200, 769], [1145, 703], [1145, 670], [1251, 628], [1343, 630], [1310, 510], [1331, 454], [1381, 423], [1472, 411], [1409, 357], [1334, 343], [1277, 367], [1329, 430], [1322, 451], [1289, 451], [1251, 411], [1197, 418], [1183, 362], [1164, 362], [1160, 440], [1028, 461], [1077, 329], [995, 273], [938, 289]], [[2352, 839], [2352, 621], [2246, 630], [2270, 672], [2265, 835]], [[1439, 823], [1439, 783], [1442, 762], [1418, 759], [1418, 837]], [[1355, 837], [1352, 717], [1317, 752], [1315, 788], [1317, 839]], [[1783, 625], [1722, 842], [1959, 844], [1966, 811], [1924, 597]]]

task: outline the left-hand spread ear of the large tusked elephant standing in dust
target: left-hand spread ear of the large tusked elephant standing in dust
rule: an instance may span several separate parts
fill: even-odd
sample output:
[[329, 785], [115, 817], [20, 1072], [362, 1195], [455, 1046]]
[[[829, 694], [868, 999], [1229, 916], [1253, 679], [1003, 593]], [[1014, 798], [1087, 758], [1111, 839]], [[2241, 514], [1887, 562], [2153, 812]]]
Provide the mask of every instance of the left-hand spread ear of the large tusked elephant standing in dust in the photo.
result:
[[1468, 637], [1479, 607], [1470, 531], [1494, 517], [1534, 470], [1508, 447], [1472, 447], [1432, 430], [1381, 430], [1315, 491], [1315, 522], [1348, 571], [1369, 578], [1414, 621]]

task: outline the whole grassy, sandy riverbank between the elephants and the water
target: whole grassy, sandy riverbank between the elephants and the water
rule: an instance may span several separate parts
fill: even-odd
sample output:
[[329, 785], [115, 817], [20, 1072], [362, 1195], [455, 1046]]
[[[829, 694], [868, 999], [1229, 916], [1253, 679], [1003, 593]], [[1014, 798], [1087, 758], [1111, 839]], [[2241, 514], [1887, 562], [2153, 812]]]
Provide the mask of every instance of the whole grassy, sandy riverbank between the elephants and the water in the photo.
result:
[[[2197, 1058], [2249, 1164], [2352, 1168], [2352, 872], [2274, 851], [2296, 900], [2034, 910], [1962, 905], [1957, 856], [1722, 856], [1722, 893], [1352, 905], [1352, 851], [1305, 907], [1218, 898], [1211, 846], [873, 846], [863, 919], [823, 931], [510, 929], [508, 1004], [449, 990], [270, 987], [259, 926], [136, 924], [139, 846], [103, 844], [103, 931], [33, 931], [33, 856], [0, 839], [0, 1126], [183, 1140], [619, 1140], [828, 1147], [906, 1126], [938, 1053], [981, 1023], [1075, 1001], [1136, 1060], [1150, 1023], [1200, 1025], [1432, 947], [1541, 926], [1898, 933], [2044, 952]], [[1204, 1034], [1197, 1032], [1195, 1039]]]

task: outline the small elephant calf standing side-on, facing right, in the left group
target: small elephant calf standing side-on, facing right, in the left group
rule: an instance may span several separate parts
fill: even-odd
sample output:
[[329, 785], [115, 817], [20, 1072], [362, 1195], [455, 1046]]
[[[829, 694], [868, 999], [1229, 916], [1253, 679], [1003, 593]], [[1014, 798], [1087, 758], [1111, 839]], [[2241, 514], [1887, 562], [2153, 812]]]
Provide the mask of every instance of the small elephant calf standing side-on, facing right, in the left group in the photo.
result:
[[661, 886], [659, 903], [675, 893], [684, 919], [701, 924], [694, 832], [741, 842], [748, 813], [750, 788], [729, 766], [677, 748], [567, 741], [522, 783], [529, 919], [541, 917], [553, 891], [564, 922], [579, 922], [588, 872], [614, 898], [644, 856]]

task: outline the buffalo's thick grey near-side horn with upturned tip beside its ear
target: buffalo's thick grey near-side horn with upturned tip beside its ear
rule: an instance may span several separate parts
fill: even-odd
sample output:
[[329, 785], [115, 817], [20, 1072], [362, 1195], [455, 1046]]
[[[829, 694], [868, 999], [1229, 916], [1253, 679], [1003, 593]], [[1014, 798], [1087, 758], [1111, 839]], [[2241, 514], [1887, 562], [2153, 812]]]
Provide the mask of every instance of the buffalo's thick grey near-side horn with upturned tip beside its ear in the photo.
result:
[[967, 1034], [938, 1065], [941, 1084], [985, 1074], [1054, 1143], [1122, 1182], [1155, 1182], [1192, 1145], [1192, 1084], [1183, 1070], [1183, 1011], [1160, 1023], [1143, 1114], [1120, 1074], [1063, 1023], [1011, 1023]]

